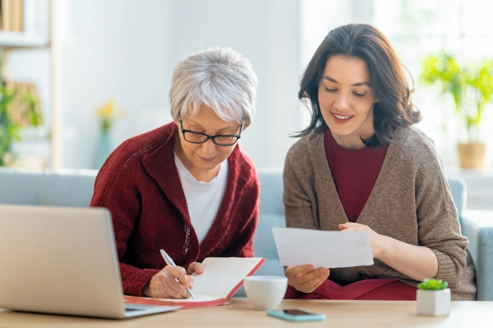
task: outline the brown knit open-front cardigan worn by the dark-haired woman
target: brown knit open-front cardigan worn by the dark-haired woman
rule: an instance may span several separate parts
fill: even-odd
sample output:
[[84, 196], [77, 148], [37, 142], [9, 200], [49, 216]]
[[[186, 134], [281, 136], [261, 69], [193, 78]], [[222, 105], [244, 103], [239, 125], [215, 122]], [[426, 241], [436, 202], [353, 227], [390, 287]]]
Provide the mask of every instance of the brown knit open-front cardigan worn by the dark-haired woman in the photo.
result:
[[[339, 231], [338, 224], [348, 222], [328, 165], [323, 133], [312, 132], [291, 147], [283, 179], [287, 227]], [[417, 128], [395, 130], [357, 223], [378, 234], [430, 248], [438, 260], [435, 278], [449, 283], [452, 299], [476, 299], [468, 240], [460, 234], [441, 161], [432, 140]], [[395, 278], [413, 286], [419, 283], [379, 260], [372, 266], [333, 268], [329, 276], [341, 285], [368, 278]]]

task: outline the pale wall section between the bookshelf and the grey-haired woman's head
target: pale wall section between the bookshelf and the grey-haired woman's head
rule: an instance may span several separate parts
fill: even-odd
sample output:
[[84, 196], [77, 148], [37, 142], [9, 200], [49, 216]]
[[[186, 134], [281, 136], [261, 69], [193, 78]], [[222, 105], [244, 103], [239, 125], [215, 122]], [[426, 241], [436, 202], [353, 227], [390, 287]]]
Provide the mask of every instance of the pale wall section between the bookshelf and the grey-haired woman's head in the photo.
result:
[[63, 167], [90, 168], [95, 110], [114, 98], [128, 111], [115, 145], [168, 120], [170, 16], [167, 1], [84, 0], [66, 5], [61, 108]]

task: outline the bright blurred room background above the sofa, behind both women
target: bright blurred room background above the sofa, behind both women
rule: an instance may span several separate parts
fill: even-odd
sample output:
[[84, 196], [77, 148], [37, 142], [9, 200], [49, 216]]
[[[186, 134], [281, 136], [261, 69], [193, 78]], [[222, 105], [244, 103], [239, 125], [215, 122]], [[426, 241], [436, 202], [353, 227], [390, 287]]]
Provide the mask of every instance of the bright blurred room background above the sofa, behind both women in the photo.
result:
[[493, 209], [492, 12], [481, 0], [0, 0], [0, 165], [98, 169], [171, 121], [179, 60], [229, 46], [259, 79], [241, 147], [282, 170], [309, 121], [301, 72], [329, 30], [370, 23], [408, 67], [418, 126], [466, 179], [468, 207]]

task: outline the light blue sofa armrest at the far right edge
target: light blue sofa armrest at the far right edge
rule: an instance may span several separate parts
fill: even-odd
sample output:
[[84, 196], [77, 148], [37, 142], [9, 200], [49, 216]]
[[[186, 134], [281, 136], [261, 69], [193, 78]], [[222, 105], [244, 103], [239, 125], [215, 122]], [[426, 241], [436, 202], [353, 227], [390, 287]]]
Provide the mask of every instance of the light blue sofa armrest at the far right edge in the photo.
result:
[[478, 300], [493, 300], [493, 210], [465, 209], [460, 221], [476, 268]]

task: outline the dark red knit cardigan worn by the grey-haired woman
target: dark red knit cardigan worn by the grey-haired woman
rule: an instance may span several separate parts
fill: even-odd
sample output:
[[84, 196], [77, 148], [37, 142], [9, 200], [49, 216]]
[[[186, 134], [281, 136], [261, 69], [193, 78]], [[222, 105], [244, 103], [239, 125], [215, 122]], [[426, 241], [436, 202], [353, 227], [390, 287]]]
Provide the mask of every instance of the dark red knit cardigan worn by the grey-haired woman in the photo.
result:
[[142, 288], [165, 266], [163, 248], [177, 266], [206, 257], [251, 257], [259, 182], [239, 145], [228, 157], [228, 180], [216, 218], [199, 244], [175, 165], [176, 124], [133, 137], [109, 155], [90, 206], [111, 212], [124, 293]]

